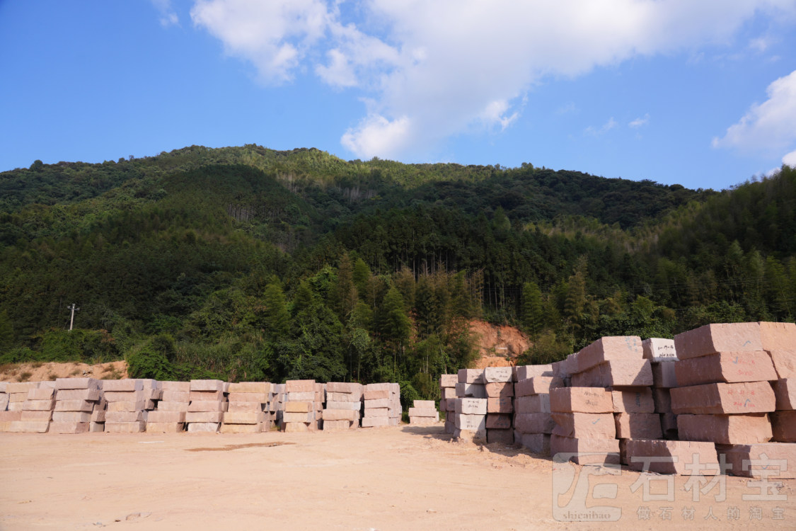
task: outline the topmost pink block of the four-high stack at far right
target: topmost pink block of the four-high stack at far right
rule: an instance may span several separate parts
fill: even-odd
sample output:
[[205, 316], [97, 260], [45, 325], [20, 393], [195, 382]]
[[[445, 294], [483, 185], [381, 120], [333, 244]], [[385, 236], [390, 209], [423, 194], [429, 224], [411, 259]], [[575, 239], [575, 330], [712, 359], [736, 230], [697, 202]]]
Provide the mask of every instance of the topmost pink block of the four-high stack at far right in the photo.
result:
[[734, 322], [700, 326], [674, 337], [681, 360], [717, 352], [763, 350], [758, 322]]

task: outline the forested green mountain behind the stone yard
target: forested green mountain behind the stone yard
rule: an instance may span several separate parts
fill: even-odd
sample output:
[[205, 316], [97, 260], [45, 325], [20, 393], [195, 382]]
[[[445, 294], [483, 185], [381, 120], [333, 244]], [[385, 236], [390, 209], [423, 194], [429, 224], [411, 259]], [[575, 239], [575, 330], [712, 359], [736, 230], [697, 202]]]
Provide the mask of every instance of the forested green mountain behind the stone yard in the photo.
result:
[[260, 146], [37, 161], [0, 174], [0, 360], [433, 396], [470, 361], [474, 317], [527, 331], [535, 361], [793, 320], [794, 205], [786, 167], [717, 193]]

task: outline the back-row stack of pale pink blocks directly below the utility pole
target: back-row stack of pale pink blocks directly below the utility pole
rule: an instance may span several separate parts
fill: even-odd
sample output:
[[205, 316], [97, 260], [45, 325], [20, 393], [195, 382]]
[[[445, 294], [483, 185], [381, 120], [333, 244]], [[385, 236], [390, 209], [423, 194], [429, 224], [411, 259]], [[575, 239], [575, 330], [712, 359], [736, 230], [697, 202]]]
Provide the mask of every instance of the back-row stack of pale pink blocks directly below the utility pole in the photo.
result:
[[94, 378], [57, 378], [56, 402], [50, 433], [91, 431], [94, 410], [105, 405], [102, 384], [102, 380]]

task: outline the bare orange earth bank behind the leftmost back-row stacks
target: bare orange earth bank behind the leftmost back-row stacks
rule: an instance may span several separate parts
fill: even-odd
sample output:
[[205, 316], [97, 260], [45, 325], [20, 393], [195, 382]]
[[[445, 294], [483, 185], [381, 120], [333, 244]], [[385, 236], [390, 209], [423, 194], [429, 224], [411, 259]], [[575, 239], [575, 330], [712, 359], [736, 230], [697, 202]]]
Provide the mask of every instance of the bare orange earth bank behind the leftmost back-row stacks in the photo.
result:
[[0, 365], [0, 381], [48, 381], [56, 378], [90, 377], [99, 380], [127, 378], [127, 361], [87, 363], [26, 362]]

